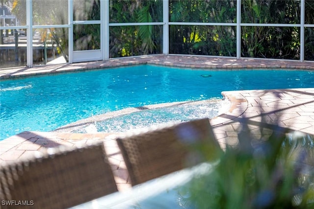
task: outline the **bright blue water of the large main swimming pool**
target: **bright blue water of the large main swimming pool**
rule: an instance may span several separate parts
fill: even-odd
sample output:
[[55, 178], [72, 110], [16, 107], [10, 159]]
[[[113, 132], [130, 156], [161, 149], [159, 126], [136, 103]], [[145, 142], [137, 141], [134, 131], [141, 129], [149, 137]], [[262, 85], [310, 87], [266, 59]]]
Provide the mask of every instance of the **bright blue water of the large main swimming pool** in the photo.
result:
[[51, 131], [127, 107], [209, 99], [229, 90], [312, 87], [313, 71], [206, 71], [148, 65], [1, 81], [0, 140], [23, 131]]

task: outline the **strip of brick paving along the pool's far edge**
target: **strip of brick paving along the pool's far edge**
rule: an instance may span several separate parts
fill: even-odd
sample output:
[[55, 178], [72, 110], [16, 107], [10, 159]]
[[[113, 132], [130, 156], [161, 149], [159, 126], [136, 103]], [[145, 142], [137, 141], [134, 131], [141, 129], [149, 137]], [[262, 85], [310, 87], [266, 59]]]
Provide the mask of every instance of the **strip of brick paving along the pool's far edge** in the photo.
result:
[[208, 57], [197, 55], [143, 55], [136, 57], [111, 58], [105, 61], [80, 62], [0, 69], [0, 80], [20, 79], [56, 73], [69, 73], [86, 70], [103, 70], [135, 65], [157, 65], [185, 69], [204, 70], [314, 70], [312, 61], [271, 60], [253, 58]]

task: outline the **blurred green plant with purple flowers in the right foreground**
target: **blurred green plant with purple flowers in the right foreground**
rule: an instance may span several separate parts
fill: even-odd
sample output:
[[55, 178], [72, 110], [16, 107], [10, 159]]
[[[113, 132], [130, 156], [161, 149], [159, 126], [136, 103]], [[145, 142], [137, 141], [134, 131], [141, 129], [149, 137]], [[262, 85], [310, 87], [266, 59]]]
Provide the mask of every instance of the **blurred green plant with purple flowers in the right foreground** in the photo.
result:
[[277, 127], [253, 146], [245, 124], [238, 147], [228, 146], [209, 172], [178, 190], [179, 204], [186, 209], [314, 208], [314, 137]]

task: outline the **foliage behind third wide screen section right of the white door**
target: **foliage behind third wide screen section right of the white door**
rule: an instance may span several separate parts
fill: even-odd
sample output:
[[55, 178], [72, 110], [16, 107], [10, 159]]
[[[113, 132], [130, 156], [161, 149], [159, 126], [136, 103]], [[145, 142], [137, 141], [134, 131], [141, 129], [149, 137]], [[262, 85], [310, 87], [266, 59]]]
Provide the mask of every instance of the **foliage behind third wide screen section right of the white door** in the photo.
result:
[[[300, 23], [300, 1], [243, 0], [242, 23]], [[300, 59], [300, 37], [297, 27], [241, 27], [243, 57]]]

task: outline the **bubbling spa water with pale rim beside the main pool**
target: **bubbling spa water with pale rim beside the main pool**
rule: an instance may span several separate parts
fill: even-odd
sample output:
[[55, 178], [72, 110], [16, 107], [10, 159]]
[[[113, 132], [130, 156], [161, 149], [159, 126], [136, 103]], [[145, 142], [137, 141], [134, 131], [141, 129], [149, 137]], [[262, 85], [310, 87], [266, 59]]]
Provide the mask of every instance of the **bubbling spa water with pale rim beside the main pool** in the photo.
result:
[[[111, 112], [83, 119], [74, 124], [61, 127], [58, 131], [72, 133], [120, 133], [145, 130], [151, 127], [180, 123], [196, 118], [214, 118], [228, 112], [230, 101], [227, 99], [208, 99], [194, 102], [173, 102], [150, 105], [134, 111], [129, 108], [123, 113]], [[129, 112], [129, 113], [126, 113]], [[80, 125], [83, 124], [83, 125]]]

